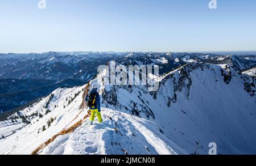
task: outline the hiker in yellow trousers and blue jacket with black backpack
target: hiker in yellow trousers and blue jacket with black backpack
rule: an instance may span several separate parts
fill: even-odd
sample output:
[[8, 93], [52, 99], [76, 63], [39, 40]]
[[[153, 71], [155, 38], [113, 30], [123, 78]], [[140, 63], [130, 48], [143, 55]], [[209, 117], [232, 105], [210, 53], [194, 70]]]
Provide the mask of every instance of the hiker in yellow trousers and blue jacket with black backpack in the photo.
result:
[[93, 121], [95, 118], [95, 115], [97, 114], [98, 121], [102, 122], [101, 117], [101, 101], [100, 101], [100, 95], [97, 92], [98, 87], [96, 85], [92, 86], [92, 90], [88, 92], [88, 94], [85, 97], [85, 101], [88, 103], [88, 107], [90, 108], [90, 111], [92, 112], [90, 116], [90, 125], [93, 125]]

